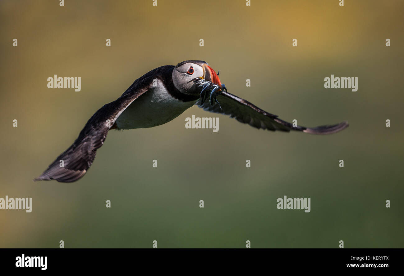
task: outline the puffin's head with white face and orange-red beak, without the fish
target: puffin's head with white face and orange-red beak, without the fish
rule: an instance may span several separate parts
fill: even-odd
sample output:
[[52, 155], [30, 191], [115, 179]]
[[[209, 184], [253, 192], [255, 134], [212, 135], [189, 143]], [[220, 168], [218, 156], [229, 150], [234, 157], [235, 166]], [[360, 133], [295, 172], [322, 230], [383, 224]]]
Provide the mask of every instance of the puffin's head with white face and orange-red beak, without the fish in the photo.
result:
[[198, 95], [201, 93], [201, 88], [194, 82], [199, 79], [210, 81], [213, 84], [219, 85], [221, 88], [220, 79], [215, 70], [202, 60], [186, 60], [180, 62], [173, 70], [173, 83], [181, 93], [189, 95]]

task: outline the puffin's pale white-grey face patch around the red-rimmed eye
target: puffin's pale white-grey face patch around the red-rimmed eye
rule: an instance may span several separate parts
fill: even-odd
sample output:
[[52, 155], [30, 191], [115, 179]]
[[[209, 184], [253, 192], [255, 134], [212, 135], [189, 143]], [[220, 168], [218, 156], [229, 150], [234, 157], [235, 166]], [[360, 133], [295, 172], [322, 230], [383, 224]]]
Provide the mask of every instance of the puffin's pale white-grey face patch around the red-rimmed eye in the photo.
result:
[[195, 95], [197, 85], [195, 79], [202, 79], [204, 76], [202, 66], [193, 62], [187, 62], [173, 70], [173, 83], [181, 93]]

